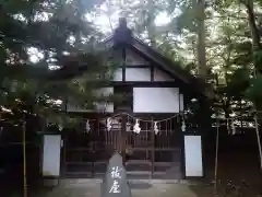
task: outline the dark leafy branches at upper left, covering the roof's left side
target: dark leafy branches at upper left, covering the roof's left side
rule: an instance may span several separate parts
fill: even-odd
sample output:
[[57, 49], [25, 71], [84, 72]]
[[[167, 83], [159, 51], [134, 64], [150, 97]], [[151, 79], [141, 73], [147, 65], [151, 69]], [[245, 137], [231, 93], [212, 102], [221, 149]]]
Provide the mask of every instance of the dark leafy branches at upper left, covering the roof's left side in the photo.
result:
[[[109, 65], [95, 50], [102, 34], [84, 18], [98, 3], [102, 1], [0, 3], [0, 103], [17, 120], [35, 114], [61, 119], [62, 106], [55, 101], [67, 95], [81, 106], [103, 100], [93, 92], [109, 80], [104, 74]], [[80, 68], [87, 71], [85, 80], [68, 80]]]

